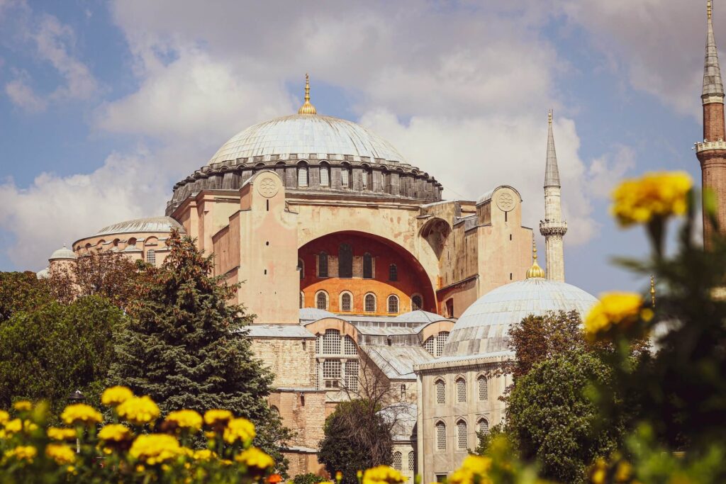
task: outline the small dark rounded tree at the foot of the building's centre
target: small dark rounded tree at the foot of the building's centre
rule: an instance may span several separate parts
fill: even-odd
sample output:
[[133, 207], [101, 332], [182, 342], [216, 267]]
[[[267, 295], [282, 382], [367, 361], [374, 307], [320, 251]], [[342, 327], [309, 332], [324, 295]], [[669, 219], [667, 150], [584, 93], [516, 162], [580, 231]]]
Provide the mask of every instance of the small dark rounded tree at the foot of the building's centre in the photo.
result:
[[356, 484], [356, 472], [391, 464], [391, 432], [386, 419], [372, 401], [356, 399], [338, 403], [325, 419], [325, 437], [318, 460], [327, 472], [343, 473], [343, 483]]

